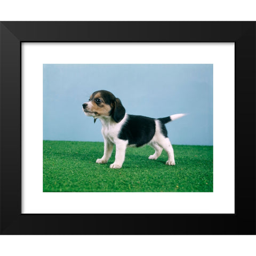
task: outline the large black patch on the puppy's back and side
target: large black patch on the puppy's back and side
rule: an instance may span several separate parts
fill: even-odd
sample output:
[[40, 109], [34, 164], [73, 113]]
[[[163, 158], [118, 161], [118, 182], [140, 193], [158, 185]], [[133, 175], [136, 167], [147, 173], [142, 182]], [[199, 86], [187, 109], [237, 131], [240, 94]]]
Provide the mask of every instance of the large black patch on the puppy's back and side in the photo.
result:
[[128, 140], [128, 145], [140, 147], [154, 137], [155, 131], [155, 119], [146, 116], [127, 115], [127, 121], [119, 132], [118, 138]]

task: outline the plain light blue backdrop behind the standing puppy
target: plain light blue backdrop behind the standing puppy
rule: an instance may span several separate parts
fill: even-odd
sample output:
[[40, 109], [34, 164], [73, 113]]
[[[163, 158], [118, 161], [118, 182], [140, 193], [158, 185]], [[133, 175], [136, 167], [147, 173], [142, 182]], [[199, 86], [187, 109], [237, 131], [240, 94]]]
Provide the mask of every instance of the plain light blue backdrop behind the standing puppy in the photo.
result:
[[44, 140], [103, 141], [82, 103], [97, 90], [120, 98], [126, 113], [188, 115], [166, 124], [174, 145], [213, 145], [213, 65], [43, 65]]

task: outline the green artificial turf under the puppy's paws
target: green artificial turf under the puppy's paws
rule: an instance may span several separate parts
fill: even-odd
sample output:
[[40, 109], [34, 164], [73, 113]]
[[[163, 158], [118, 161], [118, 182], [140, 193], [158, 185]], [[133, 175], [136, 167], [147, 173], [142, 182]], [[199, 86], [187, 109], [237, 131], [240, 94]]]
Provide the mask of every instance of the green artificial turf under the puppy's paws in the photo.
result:
[[212, 192], [213, 147], [174, 145], [175, 166], [165, 165], [163, 150], [127, 148], [121, 169], [95, 163], [103, 155], [103, 142], [44, 141], [44, 192]]

